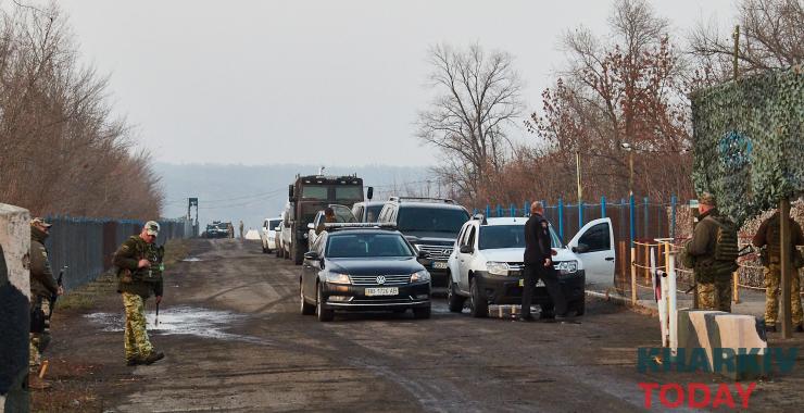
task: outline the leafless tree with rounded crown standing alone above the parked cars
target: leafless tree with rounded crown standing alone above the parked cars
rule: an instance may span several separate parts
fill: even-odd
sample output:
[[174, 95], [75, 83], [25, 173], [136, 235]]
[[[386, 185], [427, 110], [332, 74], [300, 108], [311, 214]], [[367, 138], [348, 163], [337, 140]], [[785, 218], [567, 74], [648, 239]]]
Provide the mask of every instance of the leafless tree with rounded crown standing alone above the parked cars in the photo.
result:
[[443, 152], [444, 164], [436, 170], [441, 180], [475, 197], [510, 153], [506, 127], [522, 113], [523, 82], [512, 55], [502, 51], [440, 45], [429, 54], [430, 86], [438, 96], [419, 113], [417, 137]]

